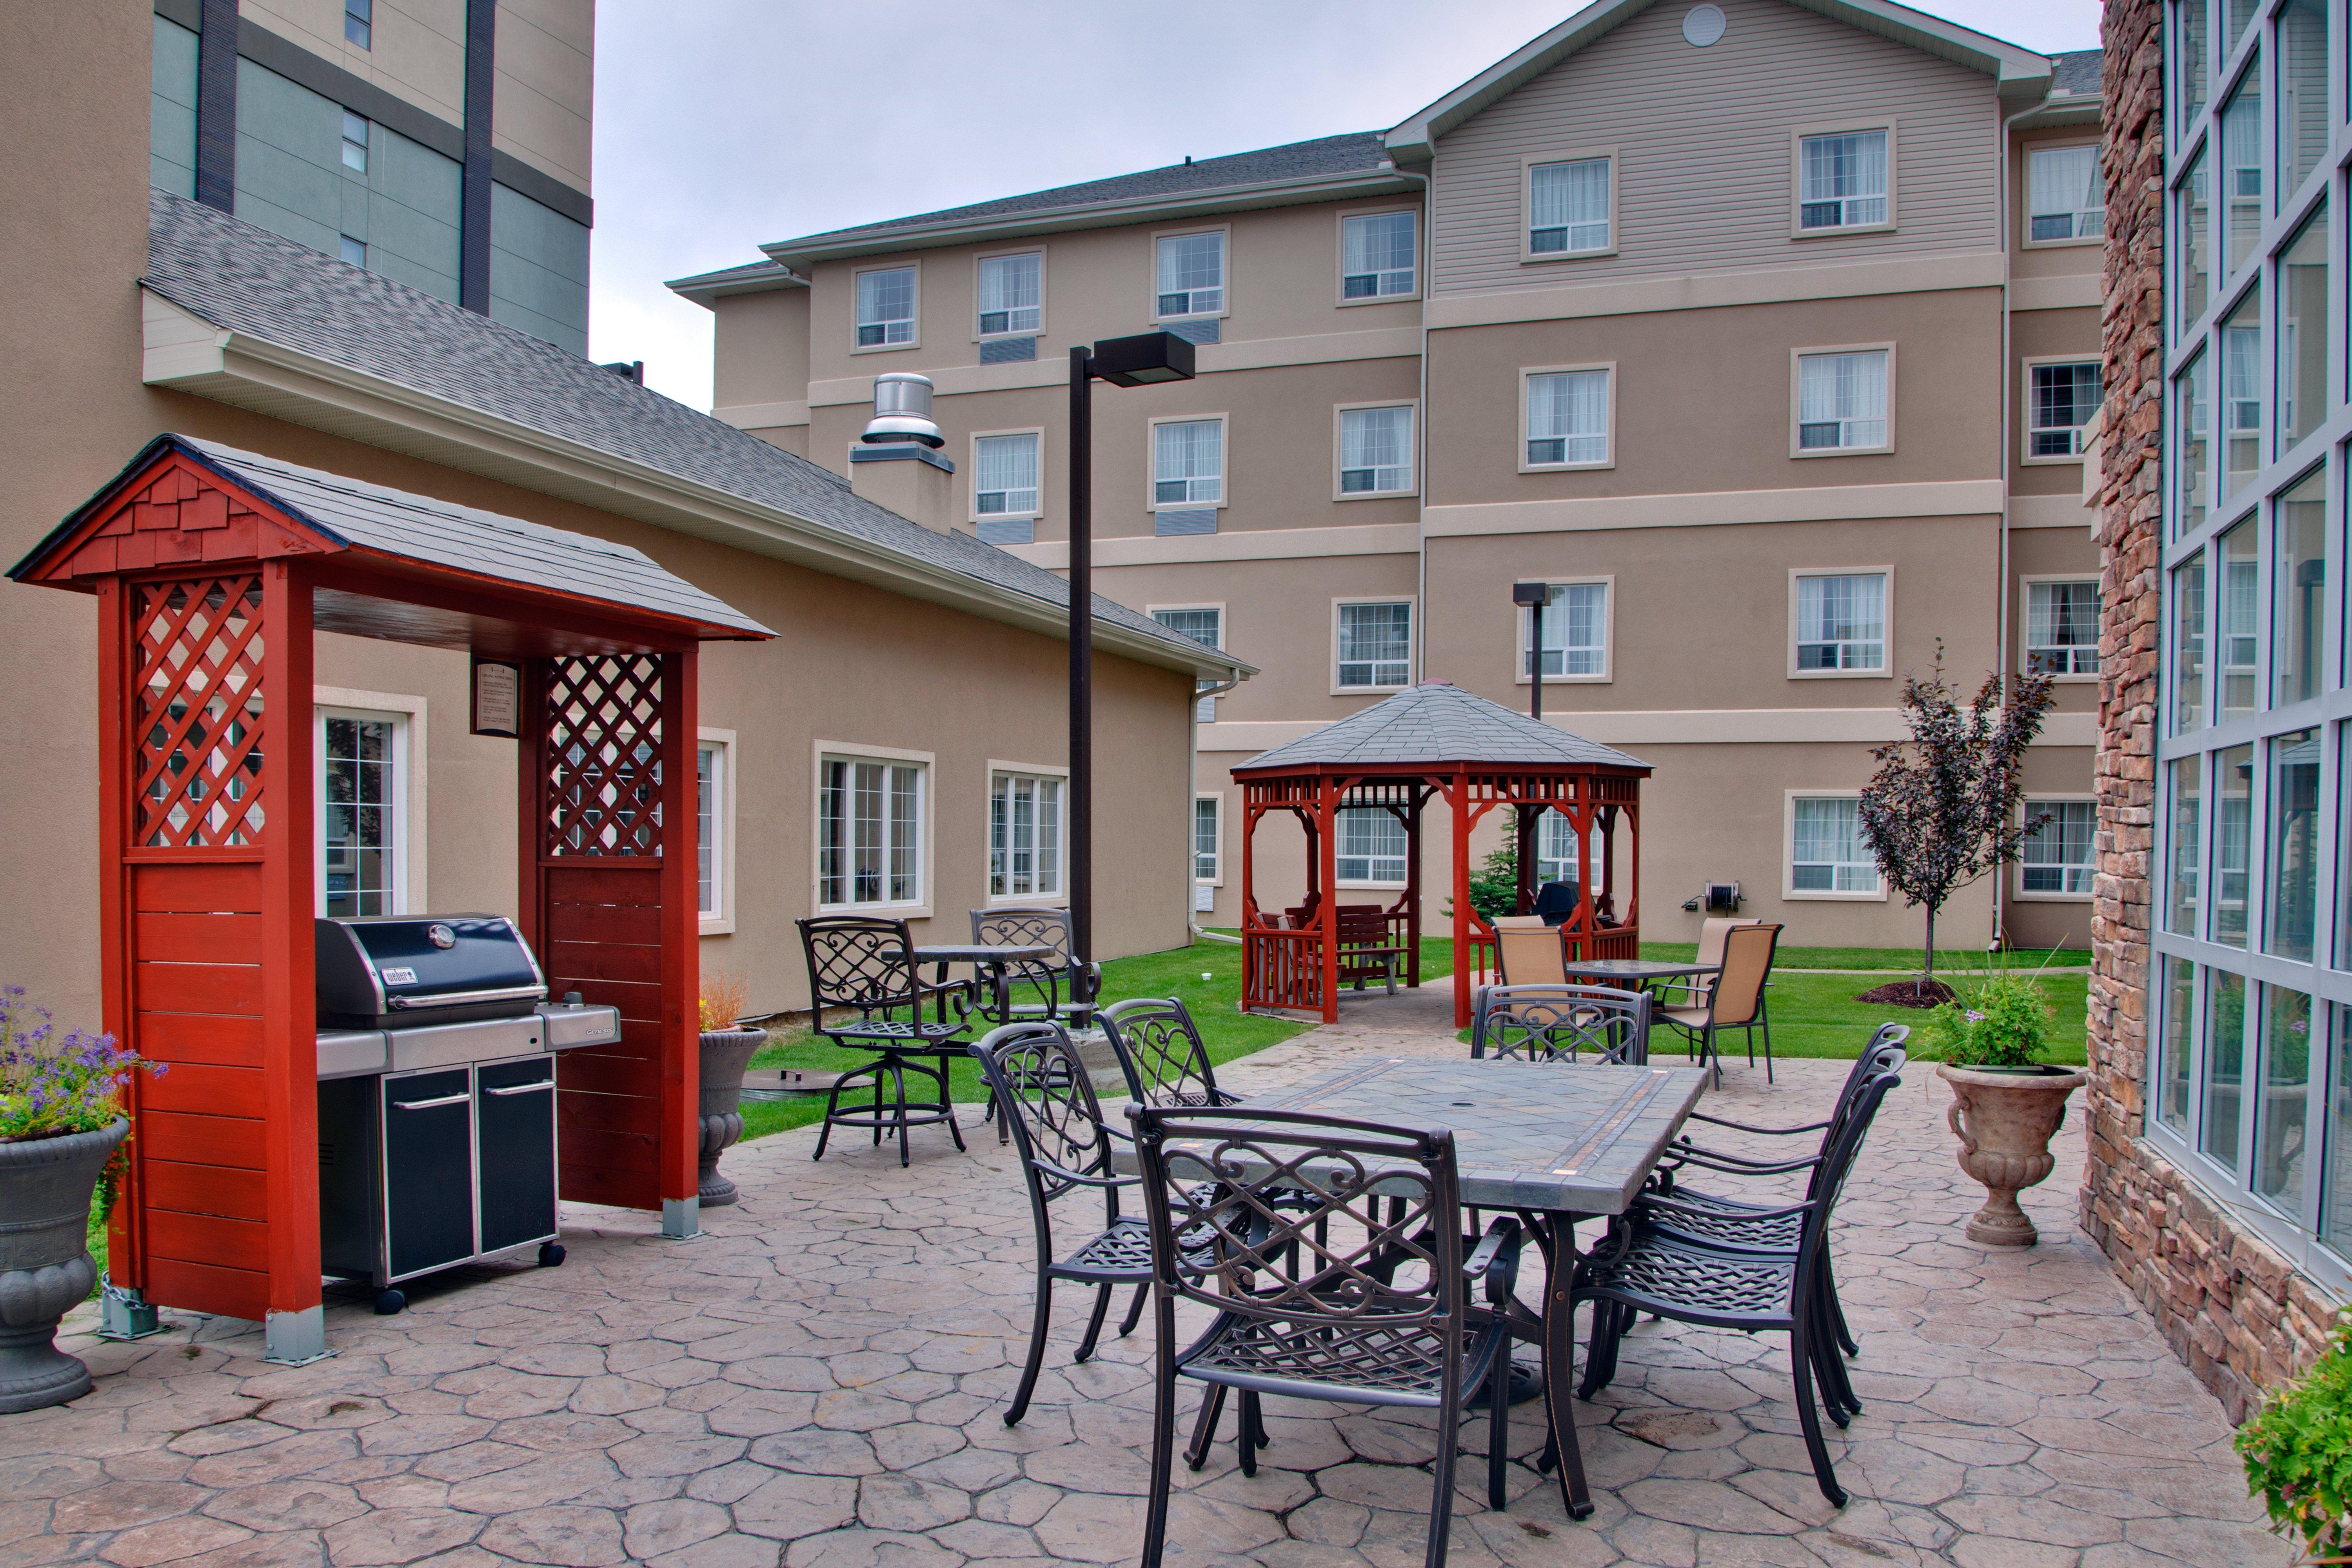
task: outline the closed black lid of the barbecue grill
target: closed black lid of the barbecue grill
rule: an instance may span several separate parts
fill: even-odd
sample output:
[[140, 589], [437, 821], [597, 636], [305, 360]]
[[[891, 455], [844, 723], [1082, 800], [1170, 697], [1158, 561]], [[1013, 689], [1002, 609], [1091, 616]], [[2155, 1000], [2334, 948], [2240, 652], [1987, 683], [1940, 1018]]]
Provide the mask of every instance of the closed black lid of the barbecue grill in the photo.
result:
[[546, 976], [503, 914], [374, 914], [315, 924], [318, 1018], [402, 1027], [529, 1013]]

